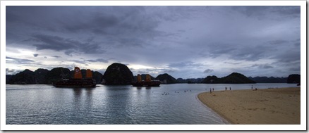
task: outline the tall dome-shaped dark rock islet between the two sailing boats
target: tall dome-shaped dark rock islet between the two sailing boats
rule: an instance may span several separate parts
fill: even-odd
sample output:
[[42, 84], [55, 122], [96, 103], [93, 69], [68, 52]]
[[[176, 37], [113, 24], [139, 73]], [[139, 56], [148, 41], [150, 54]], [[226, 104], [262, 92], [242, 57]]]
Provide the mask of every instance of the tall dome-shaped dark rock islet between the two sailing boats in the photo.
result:
[[131, 84], [133, 79], [131, 70], [121, 63], [109, 65], [103, 75], [104, 84]]

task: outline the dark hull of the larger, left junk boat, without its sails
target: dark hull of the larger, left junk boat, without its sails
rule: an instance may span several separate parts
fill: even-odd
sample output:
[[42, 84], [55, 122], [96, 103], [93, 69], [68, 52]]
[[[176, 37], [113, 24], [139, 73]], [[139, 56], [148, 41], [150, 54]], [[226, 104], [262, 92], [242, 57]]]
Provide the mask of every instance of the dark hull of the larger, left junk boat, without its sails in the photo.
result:
[[70, 79], [56, 82], [54, 87], [95, 87], [97, 84], [93, 79]]

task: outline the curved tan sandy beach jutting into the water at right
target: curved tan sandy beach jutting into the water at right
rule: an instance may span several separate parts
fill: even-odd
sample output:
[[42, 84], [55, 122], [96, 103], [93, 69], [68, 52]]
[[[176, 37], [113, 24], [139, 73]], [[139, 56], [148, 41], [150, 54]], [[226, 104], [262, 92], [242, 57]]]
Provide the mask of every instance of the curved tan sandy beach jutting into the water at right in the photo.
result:
[[198, 99], [231, 124], [301, 124], [300, 87], [204, 92]]

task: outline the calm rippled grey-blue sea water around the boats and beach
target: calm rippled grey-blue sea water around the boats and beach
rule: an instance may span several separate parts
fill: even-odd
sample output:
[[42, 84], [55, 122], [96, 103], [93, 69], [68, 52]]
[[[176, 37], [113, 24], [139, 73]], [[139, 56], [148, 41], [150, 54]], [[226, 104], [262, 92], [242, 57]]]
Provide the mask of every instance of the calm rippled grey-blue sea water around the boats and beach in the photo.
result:
[[[6, 84], [6, 125], [229, 124], [197, 98], [203, 91], [296, 87], [296, 84], [161, 84], [92, 89]], [[186, 91], [186, 92], [185, 92]]]

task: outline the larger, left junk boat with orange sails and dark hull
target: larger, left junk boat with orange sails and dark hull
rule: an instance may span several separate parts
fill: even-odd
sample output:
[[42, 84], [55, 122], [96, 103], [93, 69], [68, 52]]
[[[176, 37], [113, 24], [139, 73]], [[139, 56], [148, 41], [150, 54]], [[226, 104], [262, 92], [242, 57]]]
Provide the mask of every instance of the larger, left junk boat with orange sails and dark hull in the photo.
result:
[[73, 79], [63, 79], [53, 85], [54, 87], [95, 87], [97, 82], [95, 79], [92, 79], [92, 72], [90, 69], [87, 69], [86, 77], [83, 78], [80, 68], [75, 67]]

